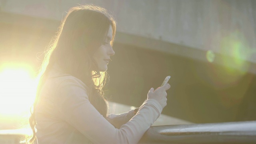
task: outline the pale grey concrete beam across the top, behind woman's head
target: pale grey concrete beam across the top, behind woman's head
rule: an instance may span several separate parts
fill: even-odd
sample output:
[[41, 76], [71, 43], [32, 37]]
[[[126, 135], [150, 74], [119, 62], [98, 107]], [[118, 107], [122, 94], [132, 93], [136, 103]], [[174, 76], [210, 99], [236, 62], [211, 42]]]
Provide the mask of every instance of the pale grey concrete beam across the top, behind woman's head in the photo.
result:
[[5, 12], [56, 20], [72, 6], [96, 4], [116, 18], [119, 32], [256, 62], [254, 0], [2, 0], [0, 4]]

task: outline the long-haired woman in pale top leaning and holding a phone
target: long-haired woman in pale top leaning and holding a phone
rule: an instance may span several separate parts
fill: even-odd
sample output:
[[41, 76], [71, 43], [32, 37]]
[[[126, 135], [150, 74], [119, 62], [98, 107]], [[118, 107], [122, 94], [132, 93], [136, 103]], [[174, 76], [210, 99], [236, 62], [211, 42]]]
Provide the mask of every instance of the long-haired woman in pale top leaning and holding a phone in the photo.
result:
[[[151, 88], [136, 110], [107, 115], [102, 87], [116, 32], [104, 8], [69, 10], [44, 59], [30, 116], [38, 144], [138, 143], [166, 106], [169, 84]], [[37, 132], [36, 132], [36, 130]]]

